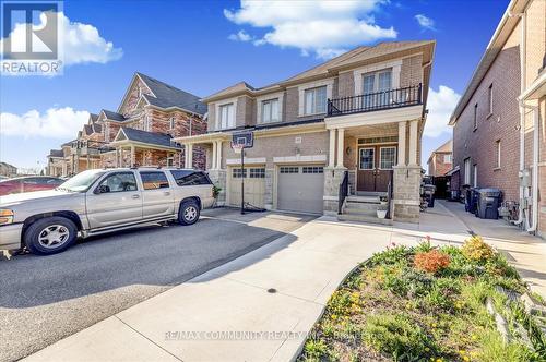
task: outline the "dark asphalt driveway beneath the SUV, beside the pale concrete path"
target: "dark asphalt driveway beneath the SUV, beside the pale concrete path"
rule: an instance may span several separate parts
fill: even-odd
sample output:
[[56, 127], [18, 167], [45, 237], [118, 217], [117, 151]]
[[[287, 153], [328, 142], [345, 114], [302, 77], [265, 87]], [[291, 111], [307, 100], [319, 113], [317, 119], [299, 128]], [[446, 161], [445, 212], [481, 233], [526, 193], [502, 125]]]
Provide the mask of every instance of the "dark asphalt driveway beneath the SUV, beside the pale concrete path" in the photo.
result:
[[90, 238], [51, 256], [0, 256], [0, 361], [40, 350], [312, 218], [219, 208], [190, 227]]

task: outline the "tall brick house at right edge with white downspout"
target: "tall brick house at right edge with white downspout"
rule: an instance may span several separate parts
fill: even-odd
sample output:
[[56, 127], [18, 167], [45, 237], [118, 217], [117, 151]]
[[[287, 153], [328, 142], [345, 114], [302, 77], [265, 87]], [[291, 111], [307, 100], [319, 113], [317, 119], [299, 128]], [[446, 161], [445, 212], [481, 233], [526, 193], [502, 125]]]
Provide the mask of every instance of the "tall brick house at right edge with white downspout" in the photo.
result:
[[519, 222], [546, 231], [546, 1], [512, 0], [459, 101], [452, 188], [499, 188]]

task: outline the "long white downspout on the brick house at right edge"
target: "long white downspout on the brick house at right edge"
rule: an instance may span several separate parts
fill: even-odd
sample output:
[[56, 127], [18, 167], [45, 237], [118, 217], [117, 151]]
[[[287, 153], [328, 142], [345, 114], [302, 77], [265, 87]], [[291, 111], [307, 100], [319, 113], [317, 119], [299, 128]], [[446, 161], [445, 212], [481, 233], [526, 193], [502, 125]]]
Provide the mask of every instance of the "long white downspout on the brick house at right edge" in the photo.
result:
[[[521, 35], [520, 35], [520, 94], [523, 94], [525, 90], [525, 77], [526, 77], [526, 72], [525, 72], [525, 40], [526, 40], [526, 35], [525, 35], [525, 25], [526, 25], [526, 16], [525, 13], [509, 13], [508, 16], [518, 16], [521, 17]], [[523, 188], [523, 172], [525, 170], [525, 113], [523, 109], [523, 105], [520, 102], [520, 202], [519, 202], [519, 212], [518, 212], [518, 220], [515, 220], [513, 224], [514, 225], [521, 225], [525, 218], [523, 216], [524, 214], [524, 208], [523, 208], [523, 198], [525, 197], [524, 195], [524, 188]], [[529, 221], [525, 222], [524, 228], [529, 226]]]

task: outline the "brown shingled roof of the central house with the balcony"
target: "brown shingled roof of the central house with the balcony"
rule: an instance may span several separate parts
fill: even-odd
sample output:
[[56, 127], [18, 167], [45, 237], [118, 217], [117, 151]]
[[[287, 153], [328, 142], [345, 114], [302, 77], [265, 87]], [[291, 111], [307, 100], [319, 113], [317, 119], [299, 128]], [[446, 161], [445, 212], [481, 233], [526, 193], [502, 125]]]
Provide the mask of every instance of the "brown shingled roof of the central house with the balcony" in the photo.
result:
[[285, 86], [293, 85], [295, 83], [301, 83], [307, 80], [313, 80], [318, 77], [324, 77], [329, 74], [335, 73], [343, 68], [355, 67], [355, 64], [366, 63], [376, 58], [394, 55], [397, 52], [411, 50], [411, 49], [423, 49], [425, 62], [427, 59], [431, 60], [434, 57], [436, 41], [435, 40], [417, 40], [417, 41], [385, 41], [379, 43], [375, 46], [360, 46], [343, 55], [340, 55], [327, 62], [323, 62], [317, 67], [306, 70], [301, 73], [293, 75], [284, 81], [266, 85], [264, 87], [254, 88], [246, 82], [239, 82], [233, 86], [229, 86], [223, 90], [214, 93], [205, 98], [203, 101], [212, 101], [227, 96], [235, 96], [239, 94], [257, 94], [262, 90], [271, 92], [275, 88], [282, 88]]

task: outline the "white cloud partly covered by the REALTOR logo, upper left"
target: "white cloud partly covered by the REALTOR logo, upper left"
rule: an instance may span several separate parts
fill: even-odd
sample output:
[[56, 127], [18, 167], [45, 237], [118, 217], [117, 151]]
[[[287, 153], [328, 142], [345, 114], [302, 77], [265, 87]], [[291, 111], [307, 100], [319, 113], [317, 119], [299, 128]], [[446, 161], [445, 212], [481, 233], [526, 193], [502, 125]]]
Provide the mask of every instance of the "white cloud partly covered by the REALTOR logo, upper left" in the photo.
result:
[[[100, 36], [98, 29], [90, 24], [72, 22], [62, 12], [58, 16], [60, 28], [59, 49], [64, 55], [64, 64], [78, 63], [107, 63], [118, 60], [123, 56], [121, 48], [115, 48], [111, 41]], [[46, 14], [40, 14], [40, 24], [36, 27], [45, 26]], [[34, 27], [34, 25], [33, 25]], [[10, 34], [13, 44], [24, 41], [25, 24], [16, 24]], [[0, 49], [3, 49], [3, 39], [0, 41]], [[2, 50], [0, 50], [2, 51]]]

